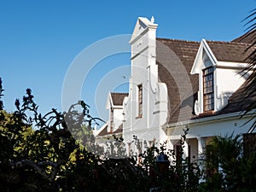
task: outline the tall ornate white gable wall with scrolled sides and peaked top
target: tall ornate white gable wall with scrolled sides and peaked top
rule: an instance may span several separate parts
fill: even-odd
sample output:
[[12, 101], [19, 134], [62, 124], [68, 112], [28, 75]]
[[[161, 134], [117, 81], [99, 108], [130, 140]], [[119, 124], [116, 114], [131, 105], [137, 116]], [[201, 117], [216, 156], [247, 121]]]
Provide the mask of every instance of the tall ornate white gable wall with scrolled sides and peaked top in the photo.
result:
[[[166, 139], [160, 128], [167, 118], [166, 84], [158, 82], [156, 53], [156, 24], [140, 18], [131, 38], [131, 79], [129, 97], [125, 99], [124, 139], [131, 143], [133, 136], [143, 143], [159, 143]], [[137, 29], [140, 29], [139, 31]], [[137, 118], [137, 85], [143, 84], [143, 117]]]

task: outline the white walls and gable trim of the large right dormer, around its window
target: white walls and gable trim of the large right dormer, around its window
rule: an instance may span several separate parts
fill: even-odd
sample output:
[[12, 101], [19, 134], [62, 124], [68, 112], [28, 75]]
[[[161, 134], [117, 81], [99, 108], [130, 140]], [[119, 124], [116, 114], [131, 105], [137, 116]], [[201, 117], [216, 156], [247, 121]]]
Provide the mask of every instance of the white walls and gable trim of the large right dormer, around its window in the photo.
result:
[[217, 61], [203, 39], [191, 70], [192, 74], [199, 74], [198, 102], [195, 104], [195, 113], [204, 113], [203, 69], [213, 67], [214, 111], [219, 111], [226, 106], [230, 96], [245, 82], [247, 77], [241, 77], [240, 72], [246, 65], [246, 63]]

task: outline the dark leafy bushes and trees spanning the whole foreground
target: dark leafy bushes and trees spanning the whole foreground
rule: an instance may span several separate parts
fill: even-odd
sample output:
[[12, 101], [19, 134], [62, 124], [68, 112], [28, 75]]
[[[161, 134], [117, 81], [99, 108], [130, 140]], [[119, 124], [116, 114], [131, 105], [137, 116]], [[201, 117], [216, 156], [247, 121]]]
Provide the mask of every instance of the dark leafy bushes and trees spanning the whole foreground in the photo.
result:
[[[3, 96], [0, 81], [0, 100]], [[205, 181], [200, 165], [183, 157], [188, 130], [180, 139], [179, 154], [153, 145], [131, 158], [102, 159], [89, 152], [91, 124], [96, 119], [89, 106], [78, 102], [67, 113], [54, 108], [38, 113], [32, 91], [27, 89], [22, 102], [15, 101], [15, 113], [0, 110], [0, 191], [253, 191], [256, 189], [256, 155], [242, 154], [239, 136], [214, 137], [207, 146]], [[77, 107], [82, 108], [79, 113]], [[73, 131], [71, 134], [70, 131]], [[76, 141], [76, 139], [77, 141]], [[137, 148], [141, 148], [135, 137]], [[85, 148], [84, 148], [85, 146]], [[99, 146], [93, 146], [100, 150]], [[125, 154], [122, 138], [108, 143], [108, 153]], [[119, 151], [114, 149], [118, 148]], [[168, 155], [160, 168], [156, 158]], [[110, 155], [111, 156], [111, 155]], [[114, 156], [114, 155], [113, 155]], [[108, 157], [108, 155], [107, 155]], [[165, 156], [166, 157], [166, 156]], [[139, 161], [139, 164], [137, 163]]]

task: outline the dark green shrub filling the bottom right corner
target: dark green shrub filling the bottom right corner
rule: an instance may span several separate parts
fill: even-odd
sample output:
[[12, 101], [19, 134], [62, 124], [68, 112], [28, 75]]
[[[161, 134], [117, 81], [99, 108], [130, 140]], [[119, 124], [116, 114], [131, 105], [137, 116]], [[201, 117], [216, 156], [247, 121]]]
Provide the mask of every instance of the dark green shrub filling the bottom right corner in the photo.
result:
[[206, 182], [201, 191], [254, 191], [256, 156], [242, 154], [240, 136], [214, 137], [206, 148]]

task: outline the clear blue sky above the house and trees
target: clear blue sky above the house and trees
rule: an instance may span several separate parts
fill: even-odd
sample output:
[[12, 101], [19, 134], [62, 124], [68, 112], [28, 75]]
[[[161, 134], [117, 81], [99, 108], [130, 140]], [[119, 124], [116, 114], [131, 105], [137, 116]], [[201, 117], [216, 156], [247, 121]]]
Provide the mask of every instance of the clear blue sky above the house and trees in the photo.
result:
[[[254, 0], [2, 0], [0, 77], [5, 109], [14, 111], [15, 99], [21, 100], [26, 88], [31, 88], [39, 111], [62, 111], [62, 84], [73, 60], [102, 38], [131, 34], [138, 16], [154, 15], [160, 38], [230, 41], [245, 32], [241, 20], [255, 5]], [[81, 99], [90, 105], [92, 115], [107, 119], [107, 93], [96, 96], [96, 89], [104, 87], [102, 81], [109, 74], [116, 82], [127, 82], [129, 58], [129, 54], [109, 56], [90, 70]], [[109, 84], [110, 91], [128, 91], [127, 84]]]

